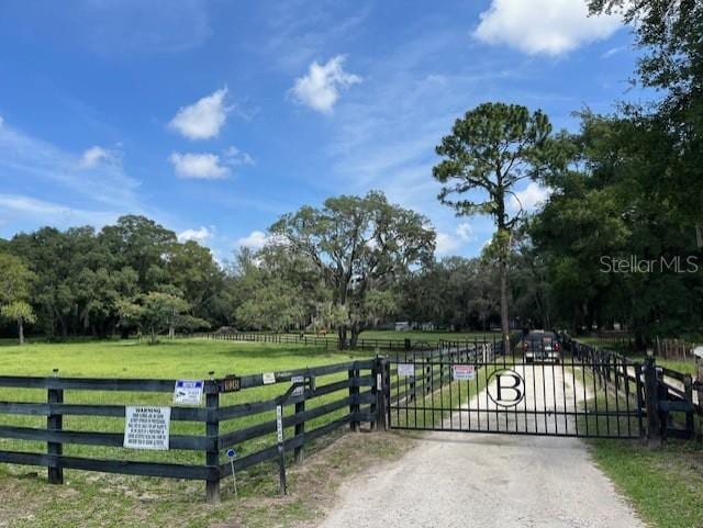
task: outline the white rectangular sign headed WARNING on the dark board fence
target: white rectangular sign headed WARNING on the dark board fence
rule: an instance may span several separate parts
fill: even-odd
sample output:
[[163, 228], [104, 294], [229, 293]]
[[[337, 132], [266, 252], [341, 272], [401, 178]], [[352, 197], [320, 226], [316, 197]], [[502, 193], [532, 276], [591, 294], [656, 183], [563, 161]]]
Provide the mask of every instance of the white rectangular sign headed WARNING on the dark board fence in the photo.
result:
[[124, 447], [167, 451], [170, 407], [125, 407]]

